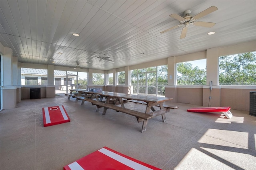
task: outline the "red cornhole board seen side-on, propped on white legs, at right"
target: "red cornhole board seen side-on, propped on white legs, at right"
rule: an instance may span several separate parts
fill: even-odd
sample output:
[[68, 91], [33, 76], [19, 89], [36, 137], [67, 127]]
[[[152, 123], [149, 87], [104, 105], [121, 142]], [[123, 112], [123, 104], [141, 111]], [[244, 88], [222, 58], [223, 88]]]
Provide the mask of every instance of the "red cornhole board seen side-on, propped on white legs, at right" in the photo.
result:
[[188, 112], [222, 112], [224, 115], [231, 119], [233, 117], [232, 113], [230, 112], [230, 107], [193, 107], [188, 109]]

